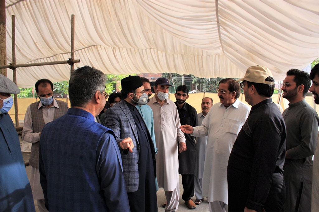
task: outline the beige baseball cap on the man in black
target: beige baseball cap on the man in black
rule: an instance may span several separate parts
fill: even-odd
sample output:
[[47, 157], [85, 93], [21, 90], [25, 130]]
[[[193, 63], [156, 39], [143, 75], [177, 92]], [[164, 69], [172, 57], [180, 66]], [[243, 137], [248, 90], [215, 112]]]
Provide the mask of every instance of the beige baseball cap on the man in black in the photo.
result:
[[265, 79], [267, 77], [273, 77], [273, 76], [272, 76], [270, 70], [266, 66], [254, 65], [254, 66], [250, 66], [247, 69], [244, 78], [238, 79], [235, 82], [246, 80], [249, 82], [263, 83], [266, 85], [274, 85], [275, 82], [265, 81]]

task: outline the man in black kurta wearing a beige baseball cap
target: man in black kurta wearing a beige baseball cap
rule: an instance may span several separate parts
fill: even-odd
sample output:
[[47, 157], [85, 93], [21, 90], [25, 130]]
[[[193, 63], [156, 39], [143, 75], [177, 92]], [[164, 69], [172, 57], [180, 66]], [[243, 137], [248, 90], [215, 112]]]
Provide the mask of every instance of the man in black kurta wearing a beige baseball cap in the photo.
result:
[[267, 67], [256, 65], [237, 81], [243, 81], [245, 100], [252, 107], [228, 160], [228, 210], [281, 211], [286, 127], [271, 100], [274, 79]]

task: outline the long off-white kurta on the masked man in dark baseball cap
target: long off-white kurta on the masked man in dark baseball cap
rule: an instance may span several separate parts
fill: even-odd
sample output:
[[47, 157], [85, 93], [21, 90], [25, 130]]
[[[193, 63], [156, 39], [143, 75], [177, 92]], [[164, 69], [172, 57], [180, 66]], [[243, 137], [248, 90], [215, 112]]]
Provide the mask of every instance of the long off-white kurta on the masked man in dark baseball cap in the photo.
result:
[[155, 97], [147, 103], [153, 111], [154, 133], [156, 147], [156, 176], [159, 188], [165, 191], [173, 191], [179, 183], [178, 176], [178, 144], [185, 142], [178, 111], [175, 103], [166, 99], [163, 106], [156, 101]]

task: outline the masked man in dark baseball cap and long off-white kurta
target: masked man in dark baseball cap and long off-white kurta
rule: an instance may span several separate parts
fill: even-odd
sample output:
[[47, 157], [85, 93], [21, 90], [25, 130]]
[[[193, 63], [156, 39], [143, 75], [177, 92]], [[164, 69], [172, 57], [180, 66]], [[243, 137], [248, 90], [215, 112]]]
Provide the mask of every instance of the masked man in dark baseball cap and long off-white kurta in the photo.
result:
[[155, 95], [148, 105], [153, 110], [154, 132], [158, 153], [156, 154], [157, 181], [164, 188], [167, 202], [165, 211], [176, 211], [179, 204], [178, 146], [179, 152], [186, 150], [185, 136], [177, 107], [168, 99], [169, 86], [166, 78], [155, 81]]

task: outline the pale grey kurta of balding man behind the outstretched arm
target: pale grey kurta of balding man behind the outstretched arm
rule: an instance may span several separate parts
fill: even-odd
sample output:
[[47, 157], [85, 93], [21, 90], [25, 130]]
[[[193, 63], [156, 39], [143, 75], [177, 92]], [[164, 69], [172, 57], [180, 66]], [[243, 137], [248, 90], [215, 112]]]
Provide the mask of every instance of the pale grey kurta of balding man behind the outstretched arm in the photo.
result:
[[[198, 118], [198, 126], [201, 126], [205, 116], [201, 112], [197, 114], [197, 118]], [[194, 175], [198, 179], [203, 178], [206, 143], [207, 143], [207, 136], [196, 137], [196, 161], [195, 161]]]

